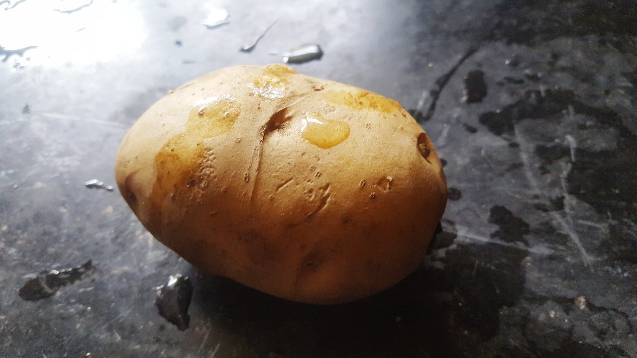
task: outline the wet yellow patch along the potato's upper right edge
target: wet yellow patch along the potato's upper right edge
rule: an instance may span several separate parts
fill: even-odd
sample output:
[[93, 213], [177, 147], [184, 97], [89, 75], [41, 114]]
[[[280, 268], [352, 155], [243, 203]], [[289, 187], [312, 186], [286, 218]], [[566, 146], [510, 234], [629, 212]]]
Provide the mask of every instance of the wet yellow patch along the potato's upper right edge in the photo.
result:
[[401, 111], [403, 107], [393, 99], [380, 96], [366, 90], [347, 92], [345, 90], [329, 90], [323, 99], [334, 104], [348, 106], [355, 110], [375, 110], [383, 113]]

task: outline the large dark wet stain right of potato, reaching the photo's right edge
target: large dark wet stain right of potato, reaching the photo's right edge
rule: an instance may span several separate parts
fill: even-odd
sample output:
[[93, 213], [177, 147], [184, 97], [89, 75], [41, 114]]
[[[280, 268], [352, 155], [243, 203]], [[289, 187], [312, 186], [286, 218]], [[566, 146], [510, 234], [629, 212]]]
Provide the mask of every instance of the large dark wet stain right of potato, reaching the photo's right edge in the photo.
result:
[[[515, 103], [482, 113], [479, 121], [493, 134], [510, 141], [510, 147], [518, 147], [512, 140], [515, 124], [539, 118], [561, 121], [567, 110], [594, 119], [595, 128], [613, 128], [618, 132], [616, 149], [575, 148], [576, 160], [566, 176], [568, 194], [590, 204], [602, 215], [637, 220], [637, 171], [634, 170], [637, 136], [624, 125], [617, 112], [585, 104], [568, 89], [528, 90], [524, 98]], [[571, 161], [571, 148], [562, 144], [538, 145], [534, 153], [543, 161], [539, 168], [542, 175], [550, 173], [548, 165], [554, 161], [564, 157]]]

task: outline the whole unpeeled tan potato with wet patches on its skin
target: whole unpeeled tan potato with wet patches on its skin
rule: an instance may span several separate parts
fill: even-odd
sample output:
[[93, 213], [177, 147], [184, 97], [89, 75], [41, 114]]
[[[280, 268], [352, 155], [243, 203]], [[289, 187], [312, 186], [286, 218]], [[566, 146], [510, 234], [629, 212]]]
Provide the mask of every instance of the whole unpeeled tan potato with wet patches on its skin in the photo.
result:
[[412, 273], [447, 203], [438, 155], [400, 104], [279, 64], [160, 99], [115, 170], [148, 231], [194, 266], [306, 303]]

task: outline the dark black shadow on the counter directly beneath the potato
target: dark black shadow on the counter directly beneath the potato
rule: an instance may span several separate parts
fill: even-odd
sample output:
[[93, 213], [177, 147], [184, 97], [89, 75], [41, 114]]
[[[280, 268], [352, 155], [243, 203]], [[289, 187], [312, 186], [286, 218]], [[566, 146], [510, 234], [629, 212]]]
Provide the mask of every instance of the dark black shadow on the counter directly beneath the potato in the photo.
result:
[[446, 268], [426, 264], [374, 296], [329, 306], [287, 301], [192, 268], [190, 314], [224, 333], [220, 356], [460, 357], [497, 334], [499, 308], [524, 289], [525, 253], [493, 246], [448, 250], [440, 261]]

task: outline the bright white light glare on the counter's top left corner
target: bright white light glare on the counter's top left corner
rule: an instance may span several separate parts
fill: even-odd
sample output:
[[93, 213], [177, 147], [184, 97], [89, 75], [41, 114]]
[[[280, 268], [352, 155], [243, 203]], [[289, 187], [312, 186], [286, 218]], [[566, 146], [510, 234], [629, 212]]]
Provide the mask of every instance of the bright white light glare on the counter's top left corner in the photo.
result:
[[[29, 46], [27, 63], [55, 66], [71, 62], [92, 64], [134, 54], [147, 38], [145, 18], [130, 1], [26, 0], [0, 11], [0, 46], [14, 50]], [[55, 10], [57, 9], [57, 10]], [[24, 63], [24, 58], [12, 56]], [[13, 63], [13, 62], [11, 62]]]

